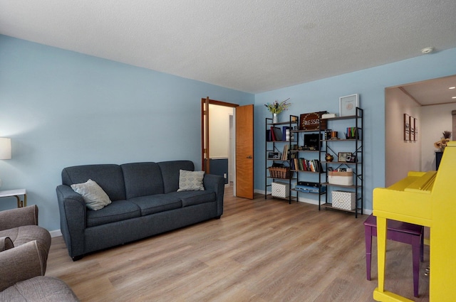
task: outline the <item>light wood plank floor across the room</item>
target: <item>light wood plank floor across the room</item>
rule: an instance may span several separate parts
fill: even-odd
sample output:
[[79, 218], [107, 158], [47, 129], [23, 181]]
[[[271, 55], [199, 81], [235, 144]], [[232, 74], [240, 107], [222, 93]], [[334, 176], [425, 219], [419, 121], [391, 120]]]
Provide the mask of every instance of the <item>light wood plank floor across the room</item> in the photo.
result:
[[[62, 237], [53, 238], [47, 276], [63, 279], [81, 301], [373, 301], [366, 280], [363, 221], [316, 205], [231, 197], [224, 215], [90, 254], [73, 262]], [[147, 226], [145, 226], [147, 227]], [[376, 242], [374, 240], [374, 242]], [[388, 241], [385, 289], [429, 301], [420, 269], [413, 297], [411, 247]]]

